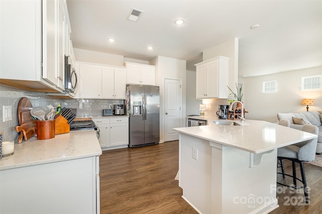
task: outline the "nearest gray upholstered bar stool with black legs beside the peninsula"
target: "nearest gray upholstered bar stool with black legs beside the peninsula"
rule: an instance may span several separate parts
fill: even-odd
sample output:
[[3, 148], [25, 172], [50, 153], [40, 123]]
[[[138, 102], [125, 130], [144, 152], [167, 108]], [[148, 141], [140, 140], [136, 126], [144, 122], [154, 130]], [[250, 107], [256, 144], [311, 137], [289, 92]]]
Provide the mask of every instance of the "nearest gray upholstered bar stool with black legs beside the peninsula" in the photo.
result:
[[[278, 174], [282, 174], [283, 178], [284, 178], [284, 175], [292, 177], [293, 178], [293, 186], [286, 185], [286, 184], [283, 184], [280, 182], [277, 182], [277, 183], [280, 185], [288, 186], [290, 188], [295, 188], [295, 189], [303, 188], [304, 189], [304, 196], [305, 196], [305, 203], [309, 203], [309, 197], [308, 197], [308, 192], [307, 192], [307, 185], [306, 185], [303, 162], [314, 161], [314, 159], [315, 159], [318, 128], [314, 125], [304, 124], [302, 131], [316, 134], [316, 137], [313, 139], [303, 141], [303, 142], [299, 142], [294, 145], [290, 145], [290, 146], [286, 146], [286, 147], [282, 147], [282, 148], [277, 149], [278, 161], [283, 161], [285, 159], [292, 161], [293, 175], [288, 175], [288, 174], [285, 174], [284, 172], [278, 173]], [[302, 180], [296, 178], [295, 163], [299, 163]], [[296, 180], [302, 182], [303, 185], [297, 186]]]

